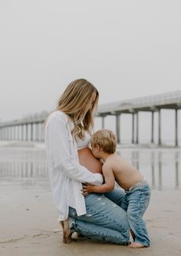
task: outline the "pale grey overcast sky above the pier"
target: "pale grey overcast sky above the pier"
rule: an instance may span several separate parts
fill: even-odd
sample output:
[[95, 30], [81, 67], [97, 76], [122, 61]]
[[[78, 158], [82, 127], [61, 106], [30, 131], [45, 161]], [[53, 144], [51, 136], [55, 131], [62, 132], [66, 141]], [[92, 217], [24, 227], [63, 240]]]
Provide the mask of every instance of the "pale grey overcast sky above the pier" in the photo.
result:
[[0, 120], [54, 109], [73, 79], [100, 104], [181, 89], [181, 1], [1, 0]]

